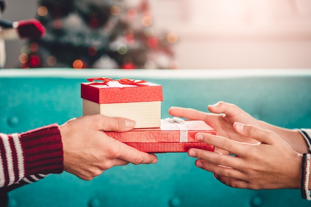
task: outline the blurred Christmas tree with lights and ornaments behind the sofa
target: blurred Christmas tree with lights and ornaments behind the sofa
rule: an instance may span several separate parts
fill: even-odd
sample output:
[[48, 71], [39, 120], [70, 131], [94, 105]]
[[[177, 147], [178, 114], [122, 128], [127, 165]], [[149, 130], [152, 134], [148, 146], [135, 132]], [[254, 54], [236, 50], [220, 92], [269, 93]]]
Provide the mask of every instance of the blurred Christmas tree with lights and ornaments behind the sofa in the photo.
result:
[[39, 0], [47, 34], [22, 48], [21, 68], [176, 68], [173, 33], [157, 34], [147, 0]]

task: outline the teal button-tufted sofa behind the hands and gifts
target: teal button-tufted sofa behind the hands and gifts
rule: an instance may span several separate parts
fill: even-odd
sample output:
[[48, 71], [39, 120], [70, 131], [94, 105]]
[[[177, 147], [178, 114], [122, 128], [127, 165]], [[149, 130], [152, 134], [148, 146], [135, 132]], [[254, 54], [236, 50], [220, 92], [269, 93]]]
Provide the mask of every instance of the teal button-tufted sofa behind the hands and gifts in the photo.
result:
[[[0, 70], [0, 132], [24, 132], [81, 116], [86, 78], [145, 79], [163, 86], [161, 117], [170, 106], [207, 111], [236, 104], [287, 128], [311, 127], [311, 70]], [[220, 183], [186, 153], [158, 163], [113, 167], [91, 181], [64, 172], [8, 194], [9, 207], [309, 207], [300, 190], [245, 190]]]

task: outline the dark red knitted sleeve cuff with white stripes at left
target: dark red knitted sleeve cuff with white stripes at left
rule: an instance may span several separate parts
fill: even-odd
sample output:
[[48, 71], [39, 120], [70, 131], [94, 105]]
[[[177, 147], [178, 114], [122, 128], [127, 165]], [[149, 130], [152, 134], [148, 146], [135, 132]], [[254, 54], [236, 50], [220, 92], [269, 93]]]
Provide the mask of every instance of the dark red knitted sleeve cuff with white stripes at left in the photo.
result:
[[63, 159], [57, 124], [21, 134], [0, 133], [0, 191], [38, 181], [50, 173], [62, 173]]

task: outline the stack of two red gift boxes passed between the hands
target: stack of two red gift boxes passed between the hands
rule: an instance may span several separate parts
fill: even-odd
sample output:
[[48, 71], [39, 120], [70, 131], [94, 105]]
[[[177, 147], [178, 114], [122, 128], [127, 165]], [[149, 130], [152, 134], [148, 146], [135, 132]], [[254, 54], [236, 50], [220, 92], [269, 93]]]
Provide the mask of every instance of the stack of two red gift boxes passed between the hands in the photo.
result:
[[143, 152], [187, 152], [190, 148], [214, 151], [195, 134], [216, 131], [204, 121], [161, 119], [162, 86], [144, 80], [90, 78], [81, 83], [83, 115], [103, 114], [136, 121], [129, 132], [106, 132]]

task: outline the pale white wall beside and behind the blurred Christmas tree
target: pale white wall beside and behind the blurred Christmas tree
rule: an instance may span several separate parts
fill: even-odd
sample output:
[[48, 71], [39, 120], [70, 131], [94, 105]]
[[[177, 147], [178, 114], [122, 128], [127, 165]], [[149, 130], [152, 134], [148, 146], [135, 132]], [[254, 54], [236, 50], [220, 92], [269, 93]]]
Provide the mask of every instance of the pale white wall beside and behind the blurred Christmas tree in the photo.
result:
[[[137, 1], [137, 0], [136, 0]], [[149, 0], [156, 31], [178, 35], [180, 68], [311, 68], [310, 0]], [[37, 0], [9, 0], [3, 18], [33, 18]], [[23, 41], [6, 43], [18, 67]]]

